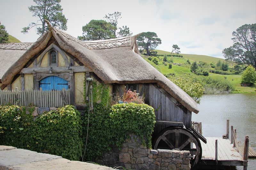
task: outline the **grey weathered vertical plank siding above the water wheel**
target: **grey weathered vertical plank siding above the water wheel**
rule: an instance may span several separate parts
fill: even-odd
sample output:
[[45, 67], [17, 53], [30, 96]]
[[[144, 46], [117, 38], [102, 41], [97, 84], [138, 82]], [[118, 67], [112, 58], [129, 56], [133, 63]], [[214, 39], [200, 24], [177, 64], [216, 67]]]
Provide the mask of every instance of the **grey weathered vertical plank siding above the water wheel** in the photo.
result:
[[[120, 97], [124, 92], [124, 84], [114, 84], [113, 92]], [[144, 95], [145, 103], [154, 107], [156, 120], [183, 122], [186, 128], [191, 128], [191, 111], [182, 106], [180, 102], [174, 99], [163, 88], [156, 84], [138, 84], [140, 95]], [[120, 95], [121, 94], [121, 95]], [[161, 127], [163, 129], [164, 127]], [[160, 130], [160, 129], [159, 129]]]

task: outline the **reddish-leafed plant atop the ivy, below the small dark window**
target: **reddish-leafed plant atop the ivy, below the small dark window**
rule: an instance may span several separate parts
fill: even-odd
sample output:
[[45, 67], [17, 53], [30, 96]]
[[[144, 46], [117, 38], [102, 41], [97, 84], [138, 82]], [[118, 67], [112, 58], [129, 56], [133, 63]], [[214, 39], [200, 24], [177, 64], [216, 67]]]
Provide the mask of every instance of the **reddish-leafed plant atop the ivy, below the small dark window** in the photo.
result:
[[131, 89], [129, 89], [123, 94], [123, 102], [143, 104], [144, 97], [140, 96], [140, 93], [136, 93], [136, 90], [132, 92]]

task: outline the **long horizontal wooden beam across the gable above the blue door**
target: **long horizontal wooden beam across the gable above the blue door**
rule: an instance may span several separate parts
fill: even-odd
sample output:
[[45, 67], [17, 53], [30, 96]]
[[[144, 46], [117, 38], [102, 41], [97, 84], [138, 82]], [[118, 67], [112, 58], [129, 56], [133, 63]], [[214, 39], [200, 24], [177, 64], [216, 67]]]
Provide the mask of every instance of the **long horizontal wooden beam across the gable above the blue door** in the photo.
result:
[[[38, 68], [23, 68], [20, 70], [20, 73], [23, 74], [32, 74], [35, 73], [49, 73], [50, 67], [38, 67]], [[70, 67], [72, 70], [68, 70], [68, 67], [52, 67], [52, 73], [69, 73], [70, 71], [76, 72], [89, 72], [91, 71], [89, 68], [85, 66], [72, 66]]]

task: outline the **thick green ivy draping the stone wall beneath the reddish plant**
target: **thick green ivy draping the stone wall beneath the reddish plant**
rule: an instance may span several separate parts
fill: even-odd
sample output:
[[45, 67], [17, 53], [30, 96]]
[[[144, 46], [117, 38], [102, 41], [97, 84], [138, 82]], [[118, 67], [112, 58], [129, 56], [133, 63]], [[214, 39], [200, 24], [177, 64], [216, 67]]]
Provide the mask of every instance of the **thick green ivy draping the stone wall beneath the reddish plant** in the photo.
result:
[[[85, 141], [88, 112], [85, 112], [82, 120]], [[93, 113], [90, 113], [85, 159], [94, 160], [102, 152], [109, 151], [112, 144], [121, 148], [128, 133], [139, 136], [151, 148], [155, 122], [154, 108], [146, 104], [116, 104], [107, 108], [102, 104], [94, 104]]]

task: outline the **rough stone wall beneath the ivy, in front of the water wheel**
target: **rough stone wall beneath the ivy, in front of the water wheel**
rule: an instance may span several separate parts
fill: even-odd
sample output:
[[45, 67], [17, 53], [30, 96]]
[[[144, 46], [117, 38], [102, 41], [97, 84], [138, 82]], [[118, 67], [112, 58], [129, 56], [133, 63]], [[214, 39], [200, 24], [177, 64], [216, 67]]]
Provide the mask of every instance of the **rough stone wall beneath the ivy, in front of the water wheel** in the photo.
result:
[[97, 163], [106, 166], [123, 166], [127, 169], [189, 170], [190, 152], [164, 149], [147, 149], [135, 135], [126, 139], [121, 150], [115, 146], [100, 157]]

